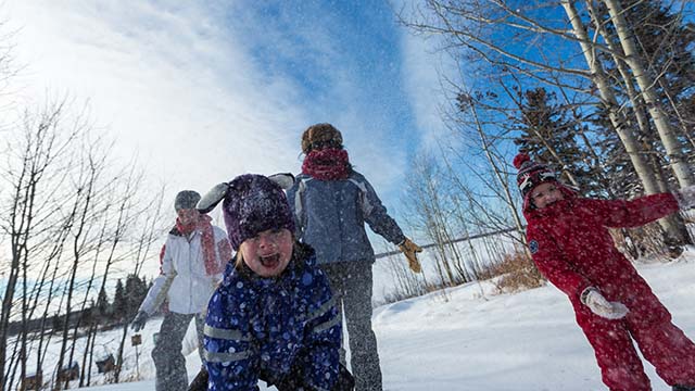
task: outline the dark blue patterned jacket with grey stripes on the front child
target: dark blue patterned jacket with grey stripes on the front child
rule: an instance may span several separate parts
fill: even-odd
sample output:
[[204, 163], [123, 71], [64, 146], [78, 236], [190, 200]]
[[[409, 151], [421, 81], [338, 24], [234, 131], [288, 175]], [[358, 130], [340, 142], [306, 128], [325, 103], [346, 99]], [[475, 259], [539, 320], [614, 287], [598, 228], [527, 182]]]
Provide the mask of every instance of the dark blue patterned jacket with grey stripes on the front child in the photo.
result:
[[294, 243], [292, 260], [277, 278], [233, 263], [207, 307], [208, 390], [258, 390], [260, 379], [277, 383], [290, 373], [312, 390], [330, 390], [338, 378], [342, 325], [313, 249]]

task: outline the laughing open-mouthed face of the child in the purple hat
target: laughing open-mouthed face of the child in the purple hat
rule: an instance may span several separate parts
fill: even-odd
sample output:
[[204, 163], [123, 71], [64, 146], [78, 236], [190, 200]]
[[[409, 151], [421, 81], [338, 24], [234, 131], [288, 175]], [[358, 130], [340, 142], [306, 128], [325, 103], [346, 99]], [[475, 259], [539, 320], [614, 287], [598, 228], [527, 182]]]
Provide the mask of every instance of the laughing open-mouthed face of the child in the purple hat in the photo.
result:
[[261, 277], [285, 272], [292, 257], [292, 232], [287, 228], [266, 229], [239, 247], [243, 262]]

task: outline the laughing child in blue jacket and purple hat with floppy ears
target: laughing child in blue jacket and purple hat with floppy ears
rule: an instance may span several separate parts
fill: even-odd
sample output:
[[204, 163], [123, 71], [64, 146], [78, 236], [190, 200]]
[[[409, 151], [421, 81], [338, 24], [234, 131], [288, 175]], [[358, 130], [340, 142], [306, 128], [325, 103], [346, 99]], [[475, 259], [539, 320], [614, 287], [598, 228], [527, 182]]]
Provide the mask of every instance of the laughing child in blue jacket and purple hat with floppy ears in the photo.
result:
[[285, 192], [261, 175], [213, 188], [237, 251], [207, 307], [204, 357], [208, 390], [352, 390], [339, 363], [341, 323], [314, 250], [294, 239]]

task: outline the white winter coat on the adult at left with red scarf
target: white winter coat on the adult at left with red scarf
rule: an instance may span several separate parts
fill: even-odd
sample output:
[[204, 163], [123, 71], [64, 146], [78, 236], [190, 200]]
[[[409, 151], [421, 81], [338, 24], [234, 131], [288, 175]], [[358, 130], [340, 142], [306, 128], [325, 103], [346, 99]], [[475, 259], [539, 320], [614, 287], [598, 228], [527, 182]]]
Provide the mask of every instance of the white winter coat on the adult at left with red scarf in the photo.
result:
[[202, 232], [193, 230], [188, 237], [174, 228], [169, 231], [161, 258], [160, 275], [154, 279], [140, 311], [154, 313], [166, 298], [170, 312], [199, 314], [207, 306], [216, 285], [222, 280], [225, 265], [231, 258], [227, 234], [213, 226], [215, 258], [218, 274], [208, 275], [201, 245]]

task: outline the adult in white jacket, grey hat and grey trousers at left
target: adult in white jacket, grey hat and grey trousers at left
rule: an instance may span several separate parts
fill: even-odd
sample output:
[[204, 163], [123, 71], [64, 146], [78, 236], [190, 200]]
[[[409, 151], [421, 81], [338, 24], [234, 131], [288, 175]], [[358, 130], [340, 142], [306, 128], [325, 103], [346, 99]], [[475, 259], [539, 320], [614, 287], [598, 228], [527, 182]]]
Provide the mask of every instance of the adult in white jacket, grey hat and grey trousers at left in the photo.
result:
[[160, 254], [160, 275], [131, 323], [132, 329], [139, 331], [150, 315], [166, 302], [164, 320], [152, 350], [157, 391], [188, 389], [181, 341], [194, 318], [202, 361], [205, 318], [201, 313], [231, 258], [227, 234], [213, 226], [210, 216], [195, 210], [198, 201], [200, 194], [192, 190], [176, 195], [174, 209], [178, 217]]

